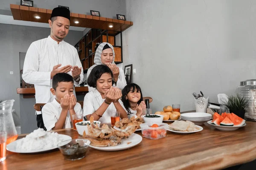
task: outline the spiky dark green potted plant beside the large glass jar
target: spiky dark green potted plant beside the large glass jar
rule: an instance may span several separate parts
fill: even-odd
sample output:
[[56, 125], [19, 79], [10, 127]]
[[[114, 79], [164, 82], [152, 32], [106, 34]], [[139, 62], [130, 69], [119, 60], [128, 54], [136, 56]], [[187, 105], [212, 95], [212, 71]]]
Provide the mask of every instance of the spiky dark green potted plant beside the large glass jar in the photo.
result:
[[245, 110], [251, 102], [252, 100], [246, 99], [243, 96], [239, 96], [238, 94], [236, 94], [236, 96], [229, 96], [228, 101], [224, 102], [224, 105], [229, 108], [230, 113], [234, 113], [244, 119]]

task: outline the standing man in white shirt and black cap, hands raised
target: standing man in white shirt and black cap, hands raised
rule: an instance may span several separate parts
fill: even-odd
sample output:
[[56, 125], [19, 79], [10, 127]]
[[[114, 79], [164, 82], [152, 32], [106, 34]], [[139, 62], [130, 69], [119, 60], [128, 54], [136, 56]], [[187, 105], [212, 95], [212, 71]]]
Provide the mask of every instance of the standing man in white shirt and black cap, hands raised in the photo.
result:
[[[49, 22], [51, 33], [47, 38], [32, 42], [26, 53], [22, 78], [35, 85], [36, 103], [52, 102], [52, 77], [57, 73], [68, 73], [74, 85], [83, 81], [82, 65], [75, 47], [63, 39], [70, 28], [70, 11], [64, 7], [54, 8]], [[41, 112], [37, 111], [37, 125], [44, 128]]]

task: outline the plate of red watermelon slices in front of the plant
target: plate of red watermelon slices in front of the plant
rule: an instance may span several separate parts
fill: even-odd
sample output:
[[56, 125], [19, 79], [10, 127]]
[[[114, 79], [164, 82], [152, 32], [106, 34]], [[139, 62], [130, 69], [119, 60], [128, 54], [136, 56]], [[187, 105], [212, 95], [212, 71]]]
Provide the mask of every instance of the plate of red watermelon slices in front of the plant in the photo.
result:
[[207, 122], [218, 130], [233, 131], [246, 125], [245, 120], [234, 113], [213, 114], [213, 120]]

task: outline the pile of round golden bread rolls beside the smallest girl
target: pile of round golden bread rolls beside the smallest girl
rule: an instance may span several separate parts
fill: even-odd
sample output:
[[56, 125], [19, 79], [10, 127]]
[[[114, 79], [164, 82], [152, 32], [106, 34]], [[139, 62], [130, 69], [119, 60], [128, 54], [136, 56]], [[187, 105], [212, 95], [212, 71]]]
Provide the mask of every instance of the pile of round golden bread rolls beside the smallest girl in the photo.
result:
[[172, 106], [165, 106], [163, 107], [163, 111], [157, 111], [155, 114], [163, 115], [163, 122], [180, 120], [180, 112], [173, 111]]

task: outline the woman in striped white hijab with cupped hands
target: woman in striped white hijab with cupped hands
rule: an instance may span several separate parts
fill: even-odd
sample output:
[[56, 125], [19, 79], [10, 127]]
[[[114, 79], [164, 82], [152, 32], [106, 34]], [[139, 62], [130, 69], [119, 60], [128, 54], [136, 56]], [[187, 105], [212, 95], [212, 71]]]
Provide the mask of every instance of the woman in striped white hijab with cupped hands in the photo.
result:
[[[91, 66], [87, 71], [87, 79], [90, 72], [96, 65], [107, 65], [113, 73], [113, 86], [119, 89], [123, 89], [127, 84], [125, 80], [125, 73], [122, 68], [116, 66], [115, 62], [115, 51], [113, 46], [108, 42], [102, 42], [96, 49], [94, 56], [94, 65]], [[88, 86], [88, 91], [92, 91], [93, 87]]]

